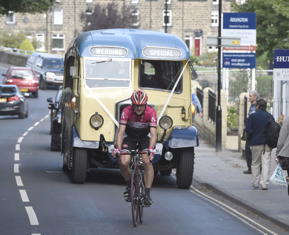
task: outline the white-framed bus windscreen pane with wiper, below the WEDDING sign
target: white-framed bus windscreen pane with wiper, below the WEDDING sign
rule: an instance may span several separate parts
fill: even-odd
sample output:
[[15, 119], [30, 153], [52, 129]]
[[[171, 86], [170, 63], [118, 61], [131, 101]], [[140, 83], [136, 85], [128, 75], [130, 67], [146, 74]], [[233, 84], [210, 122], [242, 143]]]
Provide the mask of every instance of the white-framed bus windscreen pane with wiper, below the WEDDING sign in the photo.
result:
[[98, 58], [84, 60], [84, 77], [90, 88], [129, 87], [131, 60]]

